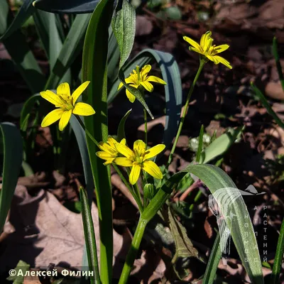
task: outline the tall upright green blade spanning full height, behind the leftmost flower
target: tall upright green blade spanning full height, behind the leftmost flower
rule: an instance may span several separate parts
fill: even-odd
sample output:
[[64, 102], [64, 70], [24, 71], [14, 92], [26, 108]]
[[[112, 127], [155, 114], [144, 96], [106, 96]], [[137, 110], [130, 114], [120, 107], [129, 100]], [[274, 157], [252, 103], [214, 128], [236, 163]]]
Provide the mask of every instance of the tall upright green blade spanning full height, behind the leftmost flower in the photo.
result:
[[[109, 23], [114, 1], [102, 0], [92, 14], [84, 40], [82, 80], [90, 81], [84, 102], [90, 104], [96, 114], [85, 116], [88, 131], [97, 141], [107, 141], [107, 54]], [[100, 271], [103, 284], [111, 283], [113, 258], [113, 231], [111, 208], [110, 169], [103, 165], [96, 152], [97, 146], [87, 137], [89, 159], [96, 187], [100, 227]]]

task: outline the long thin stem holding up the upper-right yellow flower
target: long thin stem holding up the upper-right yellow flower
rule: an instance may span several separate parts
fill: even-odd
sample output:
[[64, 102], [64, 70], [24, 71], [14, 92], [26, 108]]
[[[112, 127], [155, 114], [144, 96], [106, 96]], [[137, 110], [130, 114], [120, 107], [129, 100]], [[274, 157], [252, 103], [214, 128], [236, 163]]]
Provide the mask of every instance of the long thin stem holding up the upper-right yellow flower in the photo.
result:
[[200, 59], [200, 67], [198, 68], [197, 73], [195, 75], [195, 80], [193, 80], [193, 82], [192, 82], [192, 85], [190, 87], [190, 92], [188, 92], [188, 94], [187, 94], [187, 100], [185, 102], [185, 108], [183, 109], [182, 118], [180, 119], [180, 126], [178, 126], [177, 136], [175, 136], [175, 141], [173, 143], [173, 148], [172, 148], [172, 151], [170, 151], [170, 155], [169, 155], [169, 158], [168, 158], [168, 163], [165, 166], [165, 170], [168, 169], [168, 166], [170, 165], [170, 163], [173, 160], [173, 153], [175, 153], [175, 147], [177, 146], [178, 138], [180, 137], [180, 133], [182, 132], [182, 126], [183, 126], [183, 123], [185, 122], [185, 114], [187, 114], [187, 110], [188, 110], [188, 107], [189, 107], [189, 104], [190, 104], [190, 98], [192, 96], [193, 89], [195, 88], [195, 84], [196, 84], [196, 82], [198, 80], [198, 77], [200, 77], [200, 73], [201, 73], [202, 68], [203, 68], [205, 63], [206, 63], [205, 60]]

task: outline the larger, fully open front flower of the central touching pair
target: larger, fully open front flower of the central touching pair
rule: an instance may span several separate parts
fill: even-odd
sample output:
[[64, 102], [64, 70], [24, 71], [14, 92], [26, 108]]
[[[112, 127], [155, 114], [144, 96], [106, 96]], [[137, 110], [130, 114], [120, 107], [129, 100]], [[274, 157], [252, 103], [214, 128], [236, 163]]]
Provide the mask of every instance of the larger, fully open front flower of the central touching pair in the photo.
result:
[[141, 169], [145, 170], [154, 178], [158, 178], [159, 180], [163, 178], [163, 173], [160, 171], [158, 165], [149, 159], [162, 152], [165, 149], [165, 145], [158, 144], [146, 150], [146, 144], [142, 140], [137, 140], [133, 144], [133, 151], [126, 145], [121, 145], [119, 143], [116, 143], [115, 146], [117, 151], [125, 157], [115, 158], [114, 163], [124, 167], [132, 167], [129, 175], [129, 182], [131, 185], [134, 185], [137, 182]]

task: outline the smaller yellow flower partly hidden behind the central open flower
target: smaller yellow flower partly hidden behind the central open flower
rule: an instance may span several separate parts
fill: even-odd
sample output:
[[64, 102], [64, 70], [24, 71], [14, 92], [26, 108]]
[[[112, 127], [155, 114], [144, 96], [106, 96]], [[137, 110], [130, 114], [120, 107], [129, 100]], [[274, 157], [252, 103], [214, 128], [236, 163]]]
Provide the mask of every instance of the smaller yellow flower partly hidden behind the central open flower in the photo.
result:
[[[109, 136], [107, 138], [107, 142], [99, 142], [99, 148], [102, 151], [99, 151], [96, 153], [96, 155], [103, 159], [106, 160], [106, 162], [104, 162], [104, 165], [109, 165], [111, 163], [114, 162], [114, 159], [117, 157], [117, 155], [119, 154], [119, 151], [116, 150], [116, 143], [117, 142], [114, 138], [112, 138], [111, 136]], [[125, 145], [126, 144], [126, 140], [125, 138], [123, 138], [120, 141], [121, 145]]]

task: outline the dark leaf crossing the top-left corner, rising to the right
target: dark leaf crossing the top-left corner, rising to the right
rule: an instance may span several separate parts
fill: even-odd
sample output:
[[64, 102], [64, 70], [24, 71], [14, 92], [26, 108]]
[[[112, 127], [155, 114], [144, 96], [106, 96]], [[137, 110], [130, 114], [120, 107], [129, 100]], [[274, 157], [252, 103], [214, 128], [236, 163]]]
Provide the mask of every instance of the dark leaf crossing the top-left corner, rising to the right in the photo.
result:
[[[2, 7], [1, 7], [2, 9]], [[9, 26], [9, 28], [6, 29], [6, 32], [4, 35], [0, 37], [0, 40], [4, 40], [5, 38], [9, 38], [9, 36], [14, 32], [17, 31], [23, 23], [28, 20], [28, 18], [31, 16], [33, 13], [34, 8], [33, 8], [33, 0], [26, 0], [23, 1], [23, 4], [21, 5], [20, 11], [18, 11], [16, 17], [13, 19], [13, 22]]]

